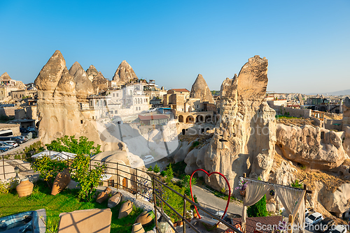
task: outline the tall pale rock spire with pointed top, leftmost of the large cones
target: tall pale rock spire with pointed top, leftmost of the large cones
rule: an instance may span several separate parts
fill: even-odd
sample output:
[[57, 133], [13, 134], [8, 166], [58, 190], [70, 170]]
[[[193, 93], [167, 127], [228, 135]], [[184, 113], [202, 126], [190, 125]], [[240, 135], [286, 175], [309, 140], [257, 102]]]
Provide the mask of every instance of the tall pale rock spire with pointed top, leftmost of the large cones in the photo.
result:
[[97, 144], [99, 133], [78, 110], [76, 83], [58, 50], [43, 66], [35, 80], [38, 89], [38, 137], [43, 144], [64, 135], [85, 136]]

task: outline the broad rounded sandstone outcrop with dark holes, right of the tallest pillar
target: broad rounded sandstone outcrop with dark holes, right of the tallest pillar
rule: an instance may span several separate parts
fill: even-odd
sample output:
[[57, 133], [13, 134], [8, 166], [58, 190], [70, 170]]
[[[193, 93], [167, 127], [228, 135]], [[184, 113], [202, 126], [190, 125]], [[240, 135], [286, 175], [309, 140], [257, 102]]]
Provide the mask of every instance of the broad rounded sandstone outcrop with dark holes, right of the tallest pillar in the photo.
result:
[[314, 169], [331, 170], [339, 167], [347, 158], [339, 135], [324, 128], [279, 123], [276, 140], [284, 157]]

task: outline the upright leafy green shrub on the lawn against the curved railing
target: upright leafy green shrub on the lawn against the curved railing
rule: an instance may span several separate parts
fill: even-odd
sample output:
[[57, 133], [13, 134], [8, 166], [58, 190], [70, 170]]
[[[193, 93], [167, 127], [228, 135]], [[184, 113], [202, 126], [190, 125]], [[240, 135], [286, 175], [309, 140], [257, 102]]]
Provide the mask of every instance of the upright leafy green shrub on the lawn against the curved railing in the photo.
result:
[[100, 165], [99, 163], [95, 163], [93, 168], [90, 168], [90, 160], [90, 156], [77, 154], [71, 165], [72, 178], [80, 185], [78, 197], [88, 202], [94, 197], [95, 187], [101, 182], [102, 174], [106, 170], [106, 165]]

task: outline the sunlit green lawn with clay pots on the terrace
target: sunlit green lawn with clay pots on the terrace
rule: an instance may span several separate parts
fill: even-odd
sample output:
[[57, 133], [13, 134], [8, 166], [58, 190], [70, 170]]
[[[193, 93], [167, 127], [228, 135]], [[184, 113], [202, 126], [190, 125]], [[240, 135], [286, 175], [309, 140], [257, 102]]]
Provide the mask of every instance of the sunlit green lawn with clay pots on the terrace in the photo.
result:
[[[33, 193], [28, 197], [18, 197], [15, 190], [10, 193], [0, 193], [0, 218], [15, 213], [45, 209], [48, 228], [55, 229], [59, 223], [59, 213], [76, 211], [78, 209], [106, 209], [107, 202], [80, 202], [77, 190], [64, 190], [52, 196], [51, 190], [45, 182], [38, 181], [34, 184]], [[125, 218], [118, 219], [119, 209], [122, 203], [112, 208], [111, 232], [131, 232], [132, 225], [142, 209], [133, 208], [132, 213]], [[144, 227], [144, 230], [152, 230], [154, 223]]]

